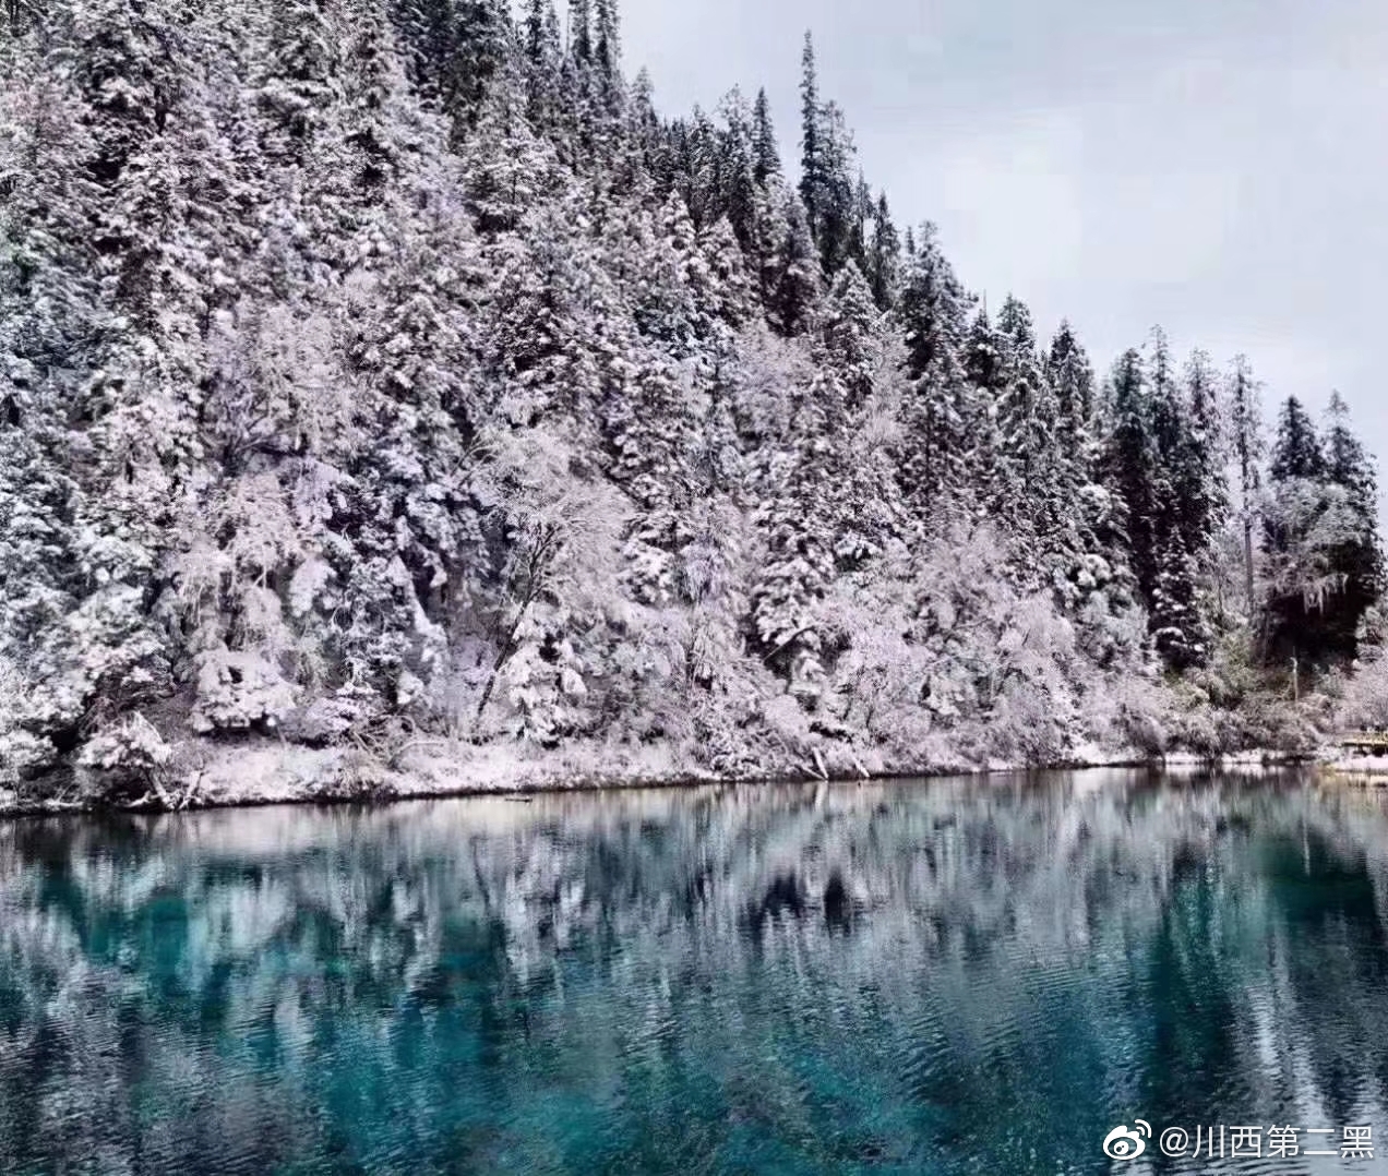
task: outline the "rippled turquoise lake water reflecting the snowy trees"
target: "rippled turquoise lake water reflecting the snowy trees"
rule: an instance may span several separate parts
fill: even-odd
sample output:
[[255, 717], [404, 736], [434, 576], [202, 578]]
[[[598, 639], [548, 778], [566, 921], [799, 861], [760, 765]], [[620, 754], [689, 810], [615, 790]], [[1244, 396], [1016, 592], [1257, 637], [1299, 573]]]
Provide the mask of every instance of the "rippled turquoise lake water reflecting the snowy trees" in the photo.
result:
[[1313, 775], [0, 822], [4, 1173], [1388, 1172], [1385, 1105]]

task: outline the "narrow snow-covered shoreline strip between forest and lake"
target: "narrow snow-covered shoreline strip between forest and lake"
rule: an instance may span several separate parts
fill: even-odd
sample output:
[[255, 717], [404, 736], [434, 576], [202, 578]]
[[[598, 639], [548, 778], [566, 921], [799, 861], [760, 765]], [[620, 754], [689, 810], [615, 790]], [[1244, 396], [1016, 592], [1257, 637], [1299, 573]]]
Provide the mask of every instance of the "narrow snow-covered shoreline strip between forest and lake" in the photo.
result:
[[[1001, 776], [1031, 772], [1083, 772], [1103, 768], [1158, 771], [1270, 769], [1316, 764], [1366, 786], [1388, 783], [1388, 758], [1370, 766], [1360, 759], [1337, 761], [1326, 750], [1313, 754], [1255, 748], [1206, 757], [1194, 753], [1144, 755], [1134, 748], [1081, 754], [1047, 764], [884, 764], [880, 771], [797, 771], [799, 765], [768, 765], [765, 771], [720, 775], [672, 754], [670, 748], [600, 748], [579, 746], [543, 754], [518, 754], [515, 748], [466, 746], [459, 755], [416, 755], [394, 766], [371, 759], [355, 748], [310, 748], [266, 740], [261, 746], [237, 744], [204, 748], [210, 762], [192, 779], [168, 787], [155, 784], [142, 797], [112, 800], [71, 796], [69, 784], [58, 796], [22, 798], [0, 789], [0, 821], [36, 816], [99, 814], [150, 814], [214, 808], [264, 808], [279, 804], [386, 805], [409, 800], [450, 800], [480, 796], [537, 796], [565, 791], [627, 791], [747, 784], [843, 784], [951, 776]], [[462, 753], [458, 747], [455, 751]], [[644, 753], [633, 755], [632, 753]], [[67, 794], [64, 794], [67, 793]]]

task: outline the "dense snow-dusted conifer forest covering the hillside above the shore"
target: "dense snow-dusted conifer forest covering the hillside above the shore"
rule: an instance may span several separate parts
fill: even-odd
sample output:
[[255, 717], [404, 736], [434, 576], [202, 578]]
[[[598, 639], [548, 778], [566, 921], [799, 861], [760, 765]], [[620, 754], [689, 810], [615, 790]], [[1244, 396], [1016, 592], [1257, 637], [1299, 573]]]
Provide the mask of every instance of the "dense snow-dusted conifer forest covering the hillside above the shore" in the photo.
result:
[[255, 733], [1044, 759], [1234, 707], [1231, 648], [1377, 640], [1344, 400], [1269, 446], [1244, 357], [1101, 376], [984, 305], [808, 35], [793, 174], [765, 92], [658, 114], [615, 0], [0, 28], [10, 779]]

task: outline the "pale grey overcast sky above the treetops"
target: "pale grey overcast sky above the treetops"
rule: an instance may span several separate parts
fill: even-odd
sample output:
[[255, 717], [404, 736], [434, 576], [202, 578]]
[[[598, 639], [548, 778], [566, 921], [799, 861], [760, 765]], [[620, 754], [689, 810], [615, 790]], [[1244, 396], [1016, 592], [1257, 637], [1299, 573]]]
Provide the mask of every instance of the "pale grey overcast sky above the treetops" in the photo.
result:
[[931, 219], [966, 285], [1062, 317], [1101, 368], [1162, 324], [1267, 414], [1332, 387], [1388, 455], [1384, 0], [625, 0], [659, 110], [772, 97], [798, 160], [799, 49], [898, 225]]

